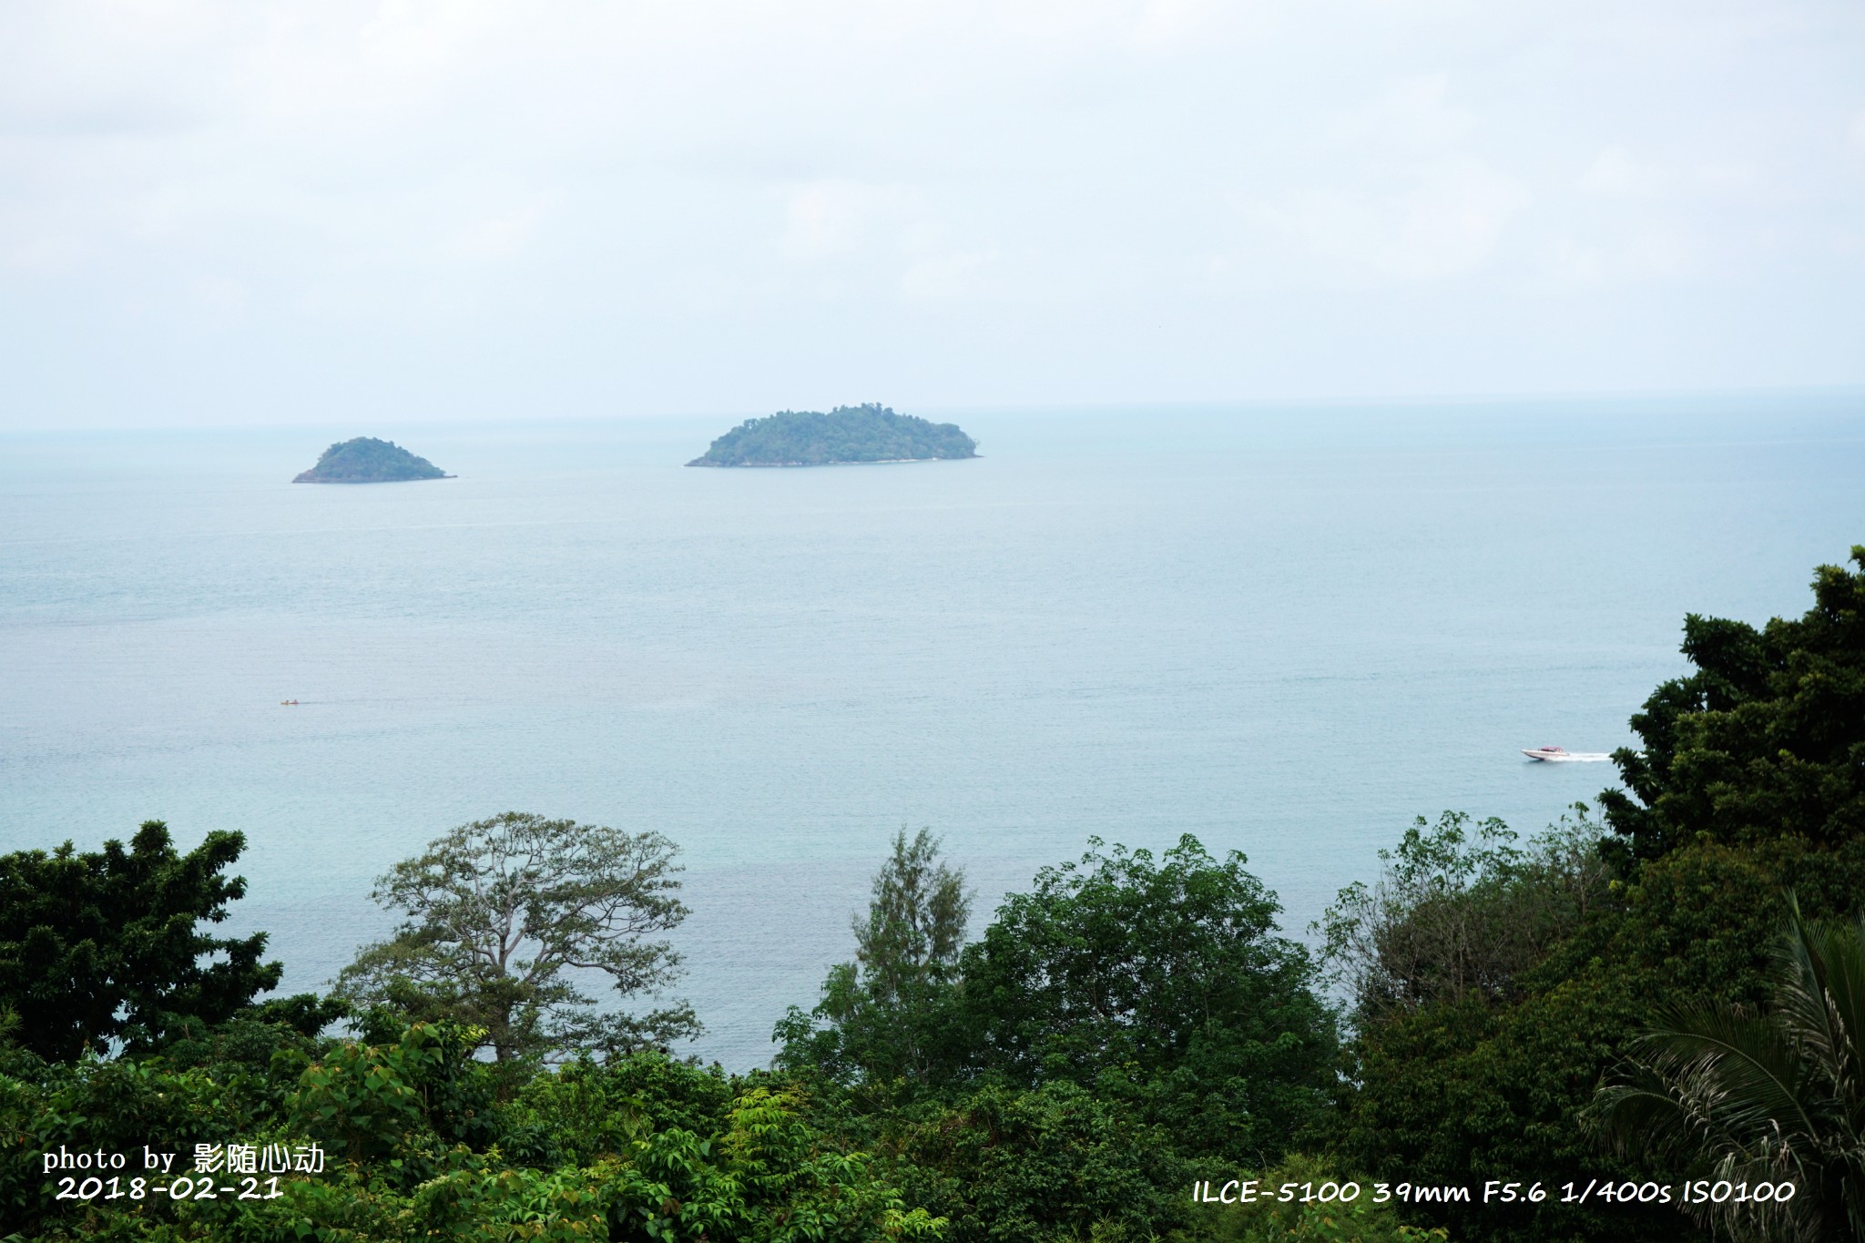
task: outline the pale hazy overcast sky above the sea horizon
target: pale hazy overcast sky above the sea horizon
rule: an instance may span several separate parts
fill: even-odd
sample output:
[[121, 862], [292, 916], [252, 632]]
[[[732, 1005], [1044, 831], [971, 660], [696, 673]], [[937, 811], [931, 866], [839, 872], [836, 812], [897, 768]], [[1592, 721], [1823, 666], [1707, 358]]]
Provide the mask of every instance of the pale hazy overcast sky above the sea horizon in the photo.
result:
[[0, 6], [0, 429], [1859, 384], [1856, 0]]

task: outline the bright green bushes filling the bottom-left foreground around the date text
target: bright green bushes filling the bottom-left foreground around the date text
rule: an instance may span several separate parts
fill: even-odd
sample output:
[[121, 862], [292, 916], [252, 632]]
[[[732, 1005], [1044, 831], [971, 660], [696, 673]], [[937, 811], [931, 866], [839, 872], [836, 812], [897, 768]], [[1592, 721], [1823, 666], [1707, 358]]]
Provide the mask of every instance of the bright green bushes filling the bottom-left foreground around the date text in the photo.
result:
[[[660, 1055], [580, 1059], [500, 1107], [498, 1068], [472, 1057], [476, 1040], [414, 1025], [390, 1045], [332, 1042], [311, 1062], [283, 1049], [272, 1075], [293, 1083], [285, 1094], [244, 1064], [48, 1064], [13, 1051], [0, 1073], [0, 1234], [867, 1243], [944, 1228], [871, 1157], [815, 1126], [794, 1086], [727, 1081]], [[552, 1159], [515, 1161], [539, 1124], [565, 1124]], [[330, 1165], [283, 1178], [276, 1200], [60, 1202], [39, 1168], [39, 1154], [60, 1144], [140, 1159], [147, 1142], [183, 1154], [183, 1172], [198, 1142], [310, 1141]]]

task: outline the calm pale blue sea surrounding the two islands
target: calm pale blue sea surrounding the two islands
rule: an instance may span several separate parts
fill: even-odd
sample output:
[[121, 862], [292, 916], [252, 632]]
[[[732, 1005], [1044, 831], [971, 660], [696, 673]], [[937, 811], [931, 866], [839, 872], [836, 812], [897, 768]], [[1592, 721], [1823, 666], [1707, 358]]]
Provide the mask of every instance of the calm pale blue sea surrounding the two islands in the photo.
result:
[[[1865, 542], [1858, 397], [957, 417], [985, 458], [808, 471], [683, 470], [731, 417], [4, 436], [0, 850], [241, 829], [302, 990], [453, 824], [660, 829], [744, 1068], [903, 824], [977, 928], [1195, 833], [1300, 932], [1416, 814], [1595, 796], [1518, 747], [1628, 744], [1686, 611]], [[287, 483], [358, 432], [459, 479]]]

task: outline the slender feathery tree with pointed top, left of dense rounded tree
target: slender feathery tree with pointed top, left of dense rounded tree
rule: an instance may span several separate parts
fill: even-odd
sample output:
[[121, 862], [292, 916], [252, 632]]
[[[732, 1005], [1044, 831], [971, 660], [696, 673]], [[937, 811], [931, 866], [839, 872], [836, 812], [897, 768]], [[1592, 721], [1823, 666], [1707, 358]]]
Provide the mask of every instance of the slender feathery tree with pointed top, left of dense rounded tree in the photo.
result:
[[813, 1068], [878, 1088], [953, 1072], [951, 1006], [972, 898], [964, 874], [938, 857], [938, 839], [903, 827], [875, 872], [867, 917], [854, 917], [854, 962], [830, 967], [813, 1012], [791, 1006], [774, 1040], [778, 1064]]

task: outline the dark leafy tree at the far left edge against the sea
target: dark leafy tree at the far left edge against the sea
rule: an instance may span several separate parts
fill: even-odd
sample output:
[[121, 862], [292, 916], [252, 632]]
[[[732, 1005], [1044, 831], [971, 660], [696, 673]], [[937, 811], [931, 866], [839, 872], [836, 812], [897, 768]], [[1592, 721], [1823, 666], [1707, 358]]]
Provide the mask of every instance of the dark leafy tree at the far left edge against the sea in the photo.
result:
[[56, 1060], [117, 1040], [147, 1051], [274, 988], [283, 969], [259, 962], [263, 932], [196, 928], [244, 896], [244, 878], [222, 876], [244, 846], [241, 833], [209, 833], [183, 855], [149, 820], [127, 850], [112, 839], [97, 854], [65, 842], [0, 855], [0, 1010], [19, 1019], [13, 1038]]

